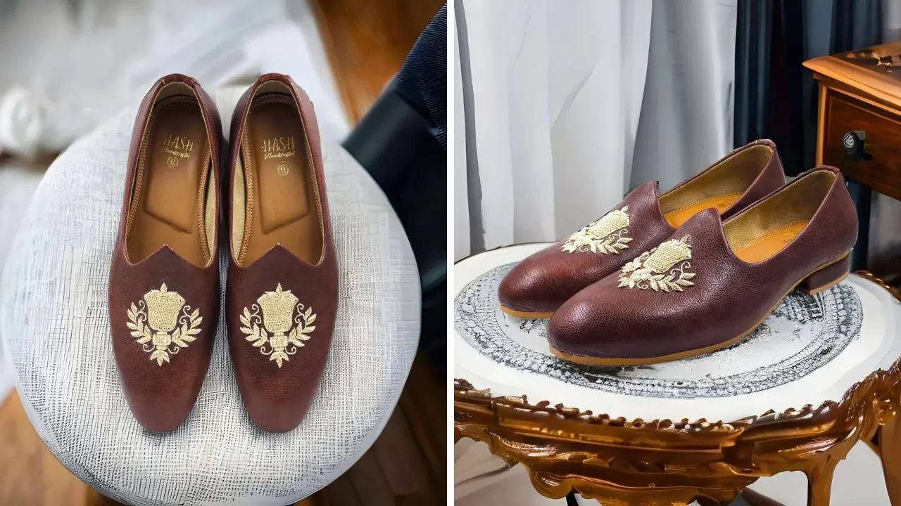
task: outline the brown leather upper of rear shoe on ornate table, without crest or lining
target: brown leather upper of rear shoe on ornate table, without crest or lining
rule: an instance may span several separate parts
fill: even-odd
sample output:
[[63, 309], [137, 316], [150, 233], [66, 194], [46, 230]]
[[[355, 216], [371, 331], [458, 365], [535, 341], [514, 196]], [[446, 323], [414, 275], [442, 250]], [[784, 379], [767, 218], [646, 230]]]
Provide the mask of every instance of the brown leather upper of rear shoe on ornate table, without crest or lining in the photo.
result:
[[[747, 187], [744, 194], [723, 212], [727, 218], [754, 203], [785, 184], [785, 174], [779, 160], [776, 145], [769, 140], [756, 140], [742, 148], [735, 149], [701, 173], [680, 183], [669, 192], [675, 191], [721, 163], [726, 158], [765, 145], [772, 149], [769, 160], [760, 167], [760, 174]], [[668, 192], [668, 193], [669, 193]], [[616, 272], [626, 262], [638, 257], [642, 252], [657, 246], [675, 230], [660, 211], [660, 195], [657, 183], [649, 181], [638, 186], [614, 206], [622, 209], [629, 206], [629, 237], [633, 238], [629, 248], [618, 254], [593, 252], [567, 253], [560, 250], [565, 239], [544, 248], [523, 259], [501, 281], [497, 298], [507, 308], [522, 312], [554, 312], [569, 297], [588, 285]]]

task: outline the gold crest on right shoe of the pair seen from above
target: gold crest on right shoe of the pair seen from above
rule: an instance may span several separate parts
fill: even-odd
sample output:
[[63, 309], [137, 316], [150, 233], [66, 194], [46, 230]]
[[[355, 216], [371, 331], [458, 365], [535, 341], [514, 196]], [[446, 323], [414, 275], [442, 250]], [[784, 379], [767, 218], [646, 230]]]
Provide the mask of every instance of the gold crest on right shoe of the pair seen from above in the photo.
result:
[[259, 348], [259, 353], [267, 355], [269, 360], [275, 360], [279, 367], [287, 362], [288, 356], [297, 353], [297, 348], [304, 346], [304, 341], [316, 330], [313, 308], [305, 308], [290, 290], [282, 290], [280, 283], [274, 292], [260, 295], [250, 308], [253, 312], [244, 308], [240, 316], [244, 339]]

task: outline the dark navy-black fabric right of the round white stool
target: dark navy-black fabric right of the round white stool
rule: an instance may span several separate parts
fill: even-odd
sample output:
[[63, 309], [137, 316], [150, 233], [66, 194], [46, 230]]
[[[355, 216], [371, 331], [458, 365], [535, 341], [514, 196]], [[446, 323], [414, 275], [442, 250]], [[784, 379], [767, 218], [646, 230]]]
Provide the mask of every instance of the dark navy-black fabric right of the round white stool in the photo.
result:
[[394, 207], [423, 289], [420, 349], [444, 370], [447, 349], [447, 5], [343, 142]]

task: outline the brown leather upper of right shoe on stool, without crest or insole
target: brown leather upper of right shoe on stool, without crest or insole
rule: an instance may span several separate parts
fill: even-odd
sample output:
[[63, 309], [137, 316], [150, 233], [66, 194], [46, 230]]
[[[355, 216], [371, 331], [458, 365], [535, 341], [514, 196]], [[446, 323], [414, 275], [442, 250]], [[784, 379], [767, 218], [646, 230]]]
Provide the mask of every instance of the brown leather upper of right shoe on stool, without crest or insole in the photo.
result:
[[[230, 240], [225, 307], [232, 366], [244, 406], [259, 429], [286, 432], [296, 428], [304, 419], [319, 388], [332, 346], [332, 330], [338, 308], [338, 265], [332, 242], [322, 150], [313, 104], [290, 77], [281, 74], [259, 77], [235, 106], [232, 115], [229, 183], [226, 186], [231, 192], [240, 156], [244, 117], [259, 86], [270, 80], [286, 84], [299, 105], [320, 195], [323, 255], [318, 264], [312, 265], [278, 244], [249, 266], [241, 266], [236, 261], [238, 252], [233, 249]], [[232, 199], [233, 195], [230, 194], [229, 227], [233, 222]], [[231, 230], [229, 235], [231, 237]], [[255, 304], [259, 307], [259, 297], [266, 292], [275, 291], [278, 285], [284, 291], [294, 294], [305, 308], [312, 308], [316, 315], [315, 330], [310, 339], [305, 341], [304, 347], [297, 348], [296, 354], [291, 355], [280, 367], [269, 359], [270, 356], [260, 353], [260, 348], [252, 345], [247, 335], [241, 331], [245, 326], [240, 319], [244, 308], [253, 312]], [[268, 345], [265, 348], [268, 349]]]

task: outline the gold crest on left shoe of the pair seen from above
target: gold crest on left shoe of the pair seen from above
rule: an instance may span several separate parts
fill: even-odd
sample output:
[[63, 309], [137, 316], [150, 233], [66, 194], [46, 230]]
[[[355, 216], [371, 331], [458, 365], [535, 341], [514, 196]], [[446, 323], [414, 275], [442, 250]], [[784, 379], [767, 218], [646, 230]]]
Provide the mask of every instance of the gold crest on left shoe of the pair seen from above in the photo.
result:
[[[181, 316], [178, 316], [179, 312]], [[185, 298], [177, 292], [169, 292], [163, 283], [159, 290], [150, 290], [137, 304], [132, 303], [125, 325], [132, 330], [132, 337], [138, 339], [141, 349], [150, 353], [150, 360], [156, 360], [157, 366], [162, 366], [179, 349], [187, 348], [187, 343], [197, 339], [201, 321], [204, 318], [200, 316], [200, 310], [191, 312], [191, 306], [185, 305]]]

